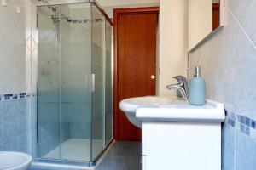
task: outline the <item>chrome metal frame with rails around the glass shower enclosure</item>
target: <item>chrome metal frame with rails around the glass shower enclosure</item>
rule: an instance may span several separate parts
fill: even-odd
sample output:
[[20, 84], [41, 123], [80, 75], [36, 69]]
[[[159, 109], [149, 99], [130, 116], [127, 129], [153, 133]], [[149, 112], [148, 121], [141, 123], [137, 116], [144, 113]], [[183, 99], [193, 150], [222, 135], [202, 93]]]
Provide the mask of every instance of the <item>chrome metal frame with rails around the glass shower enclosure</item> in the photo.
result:
[[[40, 0], [38, 0], [38, 2], [39, 1]], [[114, 61], [113, 61], [113, 21], [108, 17], [108, 14], [103, 10], [103, 8], [99, 5], [99, 3], [97, 3], [96, 0], [80, 0], [80, 2], [77, 2], [77, 3], [48, 3], [48, 1], [46, 0], [46, 3], [44, 3], [44, 4], [37, 4], [36, 6], [37, 7], [44, 7], [44, 6], [55, 6], [55, 5], [57, 6], [57, 5], [79, 4], [79, 3], [90, 3], [90, 4], [94, 4], [96, 6], [96, 8], [104, 16], [104, 19], [105, 19], [105, 31], [106, 31], [106, 22], [108, 22], [108, 24], [110, 26], [112, 26], [112, 35], [111, 35], [111, 37], [112, 37], [111, 38], [111, 40], [112, 40], [112, 42], [111, 42], [111, 64], [112, 65], [111, 65], [111, 72], [112, 72], [112, 89], [113, 89], [113, 70], [114, 70], [114, 67], [113, 67], [113, 64], [114, 64]], [[90, 11], [90, 13], [91, 12], [92, 11]], [[37, 24], [37, 26], [38, 26], [38, 24]], [[92, 27], [92, 26], [90, 26], [90, 27]], [[105, 37], [106, 37], [106, 35], [105, 35]], [[90, 36], [90, 42], [91, 42], [91, 39], [92, 39], [92, 37]], [[106, 42], [106, 39], [104, 39], [104, 40]], [[91, 52], [90, 52], [90, 55], [91, 55]], [[106, 54], [105, 54], [105, 57], [106, 57]], [[38, 75], [37, 75], [37, 77], [38, 77]], [[38, 80], [37, 80], [37, 82], [38, 82]], [[38, 88], [38, 85], [37, 85], [37, 88]], [[113, 114], [113, 91], [112, 91], [112, 114]], [[112, 119], [113, 119], [113, 117], [112, 117]], [[90, 124], [90, 126], [92, 126], [92, 125]], [[38, 127], [38, 122], [37, 122], [37, 127]], [[113, 132], [113, 125], [112, 125], [112, 129], [111, 130]], [[92, 154], [92, 152], [91, 152], [91, 150], [92, 150], [92, 144], [91, 144], [92, 143], [92, 139], [91, 138], [90, 138], [90, 155]], [[37, 138], [37, 140], [38, 140], [38, 138]], [[105, 141], [106, 141], [106, 139], [105, 139]], [[114, 137], [112, 135], [112, 139], [110, 139], [108, 144], [105, 144], [104, 149], [96, 156], [96, 158], [94, 160], [90, 160], [90, 161], [69, 161], [69, 160], [58, 160], [58, 159], [38, 158], [37, 157], [35, 162], [38, 162], [39, 164], [40, 163], [43, 163], [43, 164], [44, 163], [46, 163], [46, 164], [53, 163], [53, 164], [61, 164], [61, 165], [64, 165], [64, 166], [67, 165], [67, 166], [94, 167], [94, 166], [96, 166], [96, 162], [101, 159], [101, 157], [104, 155], [105, 151], [108, 150], [108, 148], [113, 144], [113, 142], [114, 142]], [[60, 151], [60, 153], [61, 153], [61, 151]]]

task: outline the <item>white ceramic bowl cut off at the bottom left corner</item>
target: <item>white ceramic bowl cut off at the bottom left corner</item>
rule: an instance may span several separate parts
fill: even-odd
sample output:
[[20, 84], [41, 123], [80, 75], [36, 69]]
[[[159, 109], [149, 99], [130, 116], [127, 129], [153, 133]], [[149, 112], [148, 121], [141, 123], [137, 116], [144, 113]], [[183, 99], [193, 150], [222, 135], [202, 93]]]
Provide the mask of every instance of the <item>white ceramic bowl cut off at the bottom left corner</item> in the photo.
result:
[[13, 151], [0, 151], [0, 170], [28, 170], [32, 157]]

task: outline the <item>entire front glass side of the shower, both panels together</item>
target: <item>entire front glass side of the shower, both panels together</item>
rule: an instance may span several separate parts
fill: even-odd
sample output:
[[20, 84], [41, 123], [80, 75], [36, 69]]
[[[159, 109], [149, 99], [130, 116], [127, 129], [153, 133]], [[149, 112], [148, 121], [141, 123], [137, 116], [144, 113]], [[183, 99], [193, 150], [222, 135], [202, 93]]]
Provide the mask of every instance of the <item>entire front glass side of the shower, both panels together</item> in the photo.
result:
[[90, 3], [38, 7], [38, 156], [91, 161]]

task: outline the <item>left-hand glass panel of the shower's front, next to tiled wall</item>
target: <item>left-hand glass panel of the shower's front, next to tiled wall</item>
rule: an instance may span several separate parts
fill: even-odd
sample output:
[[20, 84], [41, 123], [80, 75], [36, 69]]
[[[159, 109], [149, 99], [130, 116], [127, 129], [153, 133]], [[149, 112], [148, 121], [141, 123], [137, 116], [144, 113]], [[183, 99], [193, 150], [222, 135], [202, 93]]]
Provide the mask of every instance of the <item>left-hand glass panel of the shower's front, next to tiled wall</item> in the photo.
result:
[[[50, 8], [50, 9], [49, 9]], [[61, 159], [59, 6], [38, 7], [38, 156]], [[47, 154], [55, 149], [55, 155]]]

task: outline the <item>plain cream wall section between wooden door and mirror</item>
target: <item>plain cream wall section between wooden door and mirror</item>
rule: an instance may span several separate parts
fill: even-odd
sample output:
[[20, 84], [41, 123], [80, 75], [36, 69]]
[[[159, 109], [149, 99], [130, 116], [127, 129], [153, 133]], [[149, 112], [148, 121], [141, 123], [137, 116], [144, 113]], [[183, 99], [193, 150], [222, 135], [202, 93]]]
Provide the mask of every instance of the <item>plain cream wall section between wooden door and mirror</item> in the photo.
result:
[[187, 0], [160, 1], [160, 59], [158, 94], [176, 95], [166, 86], [177, 83], [172, 77], [186, 76], [188, 51], [188, 2]]

